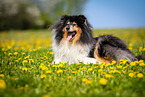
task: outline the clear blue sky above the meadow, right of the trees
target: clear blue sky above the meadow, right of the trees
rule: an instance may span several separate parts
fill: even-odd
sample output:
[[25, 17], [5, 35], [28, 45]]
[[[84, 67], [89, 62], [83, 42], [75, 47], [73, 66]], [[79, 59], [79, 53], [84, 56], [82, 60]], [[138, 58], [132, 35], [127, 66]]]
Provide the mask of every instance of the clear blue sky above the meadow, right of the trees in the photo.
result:
[[82, 14], [93, 28], [145, 28], [145, 0], [88, 0]]

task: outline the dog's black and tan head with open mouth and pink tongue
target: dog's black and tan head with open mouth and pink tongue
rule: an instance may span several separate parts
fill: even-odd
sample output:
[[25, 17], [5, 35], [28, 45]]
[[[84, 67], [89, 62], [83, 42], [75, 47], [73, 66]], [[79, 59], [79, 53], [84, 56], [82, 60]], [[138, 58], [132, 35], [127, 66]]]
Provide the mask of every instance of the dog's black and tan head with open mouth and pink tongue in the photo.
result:
[[54, 38], [58, 43], [89, 43], [92, 39], [91, 26], [84, 15], [63, 15], [51, 28], [55, 29]]

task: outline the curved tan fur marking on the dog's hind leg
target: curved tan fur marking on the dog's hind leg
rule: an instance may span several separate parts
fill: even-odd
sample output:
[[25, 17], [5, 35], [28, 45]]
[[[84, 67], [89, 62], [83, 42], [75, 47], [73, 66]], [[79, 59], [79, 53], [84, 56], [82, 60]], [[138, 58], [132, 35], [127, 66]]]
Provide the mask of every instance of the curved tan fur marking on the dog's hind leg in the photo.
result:
[[101, 62], [110, 63], [110, 62], [112, 61], [111, 59], [107, 60], [107, 59], [105, 59], [104, 57], [100, 57], [100, 55], [99, 55], [99, 53], [98, 53], [98, 46], [99, 46], [99, 44], [96, 43], [96, 47], [95, 47], [95, 50], [94, 50], [94, 57], [95, 57], [97, 60], [101, 61]]

